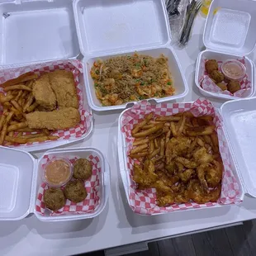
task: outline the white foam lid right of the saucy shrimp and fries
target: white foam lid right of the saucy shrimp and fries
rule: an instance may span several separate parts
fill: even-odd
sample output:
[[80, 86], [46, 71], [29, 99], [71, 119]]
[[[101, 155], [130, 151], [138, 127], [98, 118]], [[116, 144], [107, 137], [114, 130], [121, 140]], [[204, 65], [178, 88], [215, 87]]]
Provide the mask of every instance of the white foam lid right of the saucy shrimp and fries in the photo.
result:
[[247, 192], [256, 197], [256, 98], [225, 102], [220, 108], [236, 168]]

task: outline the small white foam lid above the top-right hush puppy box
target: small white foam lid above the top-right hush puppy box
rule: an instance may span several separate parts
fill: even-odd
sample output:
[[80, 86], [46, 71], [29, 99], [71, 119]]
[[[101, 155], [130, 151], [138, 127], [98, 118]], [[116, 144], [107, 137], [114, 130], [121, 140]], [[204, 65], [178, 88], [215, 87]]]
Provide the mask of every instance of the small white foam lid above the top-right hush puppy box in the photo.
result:
[[206, 19], [206, 48], [232, 55], [249, 55], [256, 45], [256, 2], [214, 0]]

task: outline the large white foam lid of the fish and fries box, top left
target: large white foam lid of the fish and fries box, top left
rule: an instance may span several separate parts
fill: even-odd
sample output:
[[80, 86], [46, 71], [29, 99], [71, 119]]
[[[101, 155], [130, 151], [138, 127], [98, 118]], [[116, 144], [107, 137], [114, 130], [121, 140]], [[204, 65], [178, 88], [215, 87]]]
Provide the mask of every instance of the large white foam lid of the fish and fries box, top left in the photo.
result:
[[68, 59], [79, 55], [69, 0], [0, 3], [0, 65]]

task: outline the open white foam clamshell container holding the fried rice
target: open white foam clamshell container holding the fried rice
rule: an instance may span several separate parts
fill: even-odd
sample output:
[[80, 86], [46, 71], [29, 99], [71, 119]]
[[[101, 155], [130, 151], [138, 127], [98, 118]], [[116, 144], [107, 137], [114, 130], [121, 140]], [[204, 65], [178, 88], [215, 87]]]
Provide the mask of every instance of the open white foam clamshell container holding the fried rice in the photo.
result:
[[164, 0], [75, 0], [74, 16], [78, 42], [84, 56], [84, 76], [90, 107], [95, 111], [125, 109], [127, 104], [103, 107], [95, 95], [90, 70], [95, 60], [119, 55], [168, 57], [176, 93], [171, 97], [154, 98], [167, 102], [187, 95], [187, 82], [178, 58], [168, 45], [171, 41]]

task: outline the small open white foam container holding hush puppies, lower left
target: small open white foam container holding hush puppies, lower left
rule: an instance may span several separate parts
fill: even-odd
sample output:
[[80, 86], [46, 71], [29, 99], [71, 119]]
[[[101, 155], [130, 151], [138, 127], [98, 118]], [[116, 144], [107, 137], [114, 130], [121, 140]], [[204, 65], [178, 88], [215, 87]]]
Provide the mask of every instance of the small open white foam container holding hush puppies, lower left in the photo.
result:
[[[44, 183], [41, 162], [45, 154], [62, 158], [88, 158], [90, 154], [97, 156], [101, 168], [98, 186], [100, 201], [93, 212], [43, 216], [36, 211], [37, 194]], [[30, 213], [42, 221], [81, 220], [98, 216], [107, 204], [110, 191], [109, 166], [103, 154], [93, 148], [53, 149], [45, 154], [40, 159], [34, 159], [25, 151], [0, 147], [0, 220], [21, 220]]]

